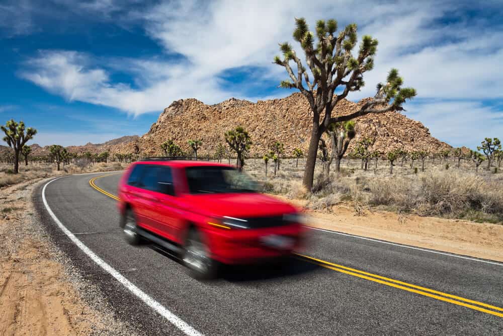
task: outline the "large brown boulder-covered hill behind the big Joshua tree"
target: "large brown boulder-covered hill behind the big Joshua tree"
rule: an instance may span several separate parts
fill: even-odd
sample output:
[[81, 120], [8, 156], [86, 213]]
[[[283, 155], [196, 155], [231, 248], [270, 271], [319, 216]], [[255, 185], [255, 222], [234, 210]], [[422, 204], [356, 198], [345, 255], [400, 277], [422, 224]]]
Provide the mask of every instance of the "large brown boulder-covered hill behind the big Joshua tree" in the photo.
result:
[[[341, 101], [337, 114], [345, 115], [356, 111], [360, 104], [348, 100]], [[376, 139], [374, 150], [388, 152], [395, 149], [440, 151], [451, 147], [430, 135], [421, 122], [407, 118], [400, 112], [369, 114], [356, 119], [357, 137], [350, 145], [363, 137]], [[190, 139], [202, 139], [200, 155], [213, 154], [219, 143], [225, 144], [225, 131], [242, 125], [250, 134], [253, 146], [250, 154], [262, 156], [275, 141], [285, 145], [285, 154], [293, 149], [307, 151], [310, 137], [309, 105], [300, 93], [286, 98], [253, 103], [247, 100], [230, 98], [215, 105], [190, 98], [174, 101], [159, 115], [150, 130], [141, 138], [130, 143], [113, 147], [114, 152], [132, 153], [135, 144], [140, 153], [146, 156], [161, 155], [160, 144], [173, 139], [176, 144], [188, 151]], [[348, 152], [348, 153], [349, 153]]]

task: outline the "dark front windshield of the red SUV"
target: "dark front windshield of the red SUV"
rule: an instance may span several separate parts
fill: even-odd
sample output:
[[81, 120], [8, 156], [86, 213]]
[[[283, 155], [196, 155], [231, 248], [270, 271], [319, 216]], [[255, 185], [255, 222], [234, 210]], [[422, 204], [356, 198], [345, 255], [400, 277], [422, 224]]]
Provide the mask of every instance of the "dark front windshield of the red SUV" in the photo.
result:
[[190, 193], [257, 192], [255, 180], [231, 167], [186, 168]]

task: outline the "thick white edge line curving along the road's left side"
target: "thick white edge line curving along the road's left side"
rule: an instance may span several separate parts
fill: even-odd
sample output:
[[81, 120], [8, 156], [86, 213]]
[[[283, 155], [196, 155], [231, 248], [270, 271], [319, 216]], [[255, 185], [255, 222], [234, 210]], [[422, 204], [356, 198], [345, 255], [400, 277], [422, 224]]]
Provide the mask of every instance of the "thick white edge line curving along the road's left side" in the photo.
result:
[[145, 292], [143, 292], [141, 289], [136, 287], [133, 283], [131, 283], [129, 280], [127, 280], [122, 274], [120, 274], [115, 268], [110, 266], [108, 263], [106, 263], [102, 258], [100, 258], [98, 255], [96, 255], [89, 247], [84, 245], [80, 240], [75, 237], [73, 233], [71, 233], [54, 215], [52, 212], [51, 208], [47, 204], [47, 199], [45, 198], [45, 188], [49, 183], [52, 181], [55, 181], [58, 178], [55, 178], [53, 180], [50, 180], [47, 182], [43, 189], [42, 189], [42, 201], [44, 203], [45, 208], [47, 209], [47, 212], [49, 215], [52, 217], [54, 222], [57, 224], [57, 226], [63, 231], [70, 240], [78, 246], [82, 250], [82, 252], [86, 253], [94, 262], [96, 262], [101, 268], [103, 268], [107, 273], [109, 273], [112, 277], [114, 277], [119, 283], [121, 283], [124, 287], [126, 287], [131, 293], [136, 295], [141, 301], [143, 301], [145, 304], [147, 304], [149, 307], [151, 307], [153, 310], [155, 310], [159, 315], [170, 321], [173, 325], [175, 325], [177, 328], [179, 328], [181, 331], [183, 331], [185, 334], [190, 335], [190, 336], [202, 336], [203, 334], [194, 329], [192, 326], [190, 326], [187, 322], [182, 320], [180, 317], [177, 315], [173, 314], [170, 310], [166, 309], [164, 306], [162, 306], [159, 302], [155, 301], [152, 299], [150, 296], [148, 296]]

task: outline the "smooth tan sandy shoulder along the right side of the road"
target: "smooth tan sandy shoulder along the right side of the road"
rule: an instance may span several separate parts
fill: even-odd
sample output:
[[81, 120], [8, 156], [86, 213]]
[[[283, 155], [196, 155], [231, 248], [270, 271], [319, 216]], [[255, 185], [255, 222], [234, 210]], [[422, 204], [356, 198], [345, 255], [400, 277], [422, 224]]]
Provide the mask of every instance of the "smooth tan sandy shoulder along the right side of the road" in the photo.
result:
[[[305, 200], [288, 199], [303, 207]], [[331, 213], [306, 211], [307, 225], [400, 244], [503, 261], [503, 225], [363, 210], [351, 204]]]

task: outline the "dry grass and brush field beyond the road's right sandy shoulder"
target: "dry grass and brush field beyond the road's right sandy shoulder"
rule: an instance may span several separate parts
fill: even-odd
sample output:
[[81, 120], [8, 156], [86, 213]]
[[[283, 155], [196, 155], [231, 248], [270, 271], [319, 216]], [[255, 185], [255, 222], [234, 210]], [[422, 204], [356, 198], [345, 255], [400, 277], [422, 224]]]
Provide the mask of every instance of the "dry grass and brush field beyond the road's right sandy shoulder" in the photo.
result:
[[[398, 161], [390, 175], [387, 162], [379, 161], [375, 170], [372, 163], [364, 171], [359, 160], [346, 159], [341, 174], [332, 172], [329, 179], [321, 178], [317, 165], [313, 192], [302, 187], [304, 160], [297, 168], [295, 160], [282, 160], [276, 176], [270, 164], [267, 177], [262, 160], [249, 159], [246, 163], [245, 171], [263, 183], [264, 191], [307, 199], [312, 210], [331, 212], [334, 205], [350, 201], [360, 216], [377, 207], [400, 214], [503, 223], [503, 173], [494, 174], [482, 167], [475, 172], [469, 162], [462, 162], [458, 168], [457, 161], [451, 160], [445, 169], [445, 162], [432, 165], [428, 160], [423, 173], [421, 162], [411, 167], [410, 161], [403, 166]], [[417, 174], [415, 167], [420, 168]]]

